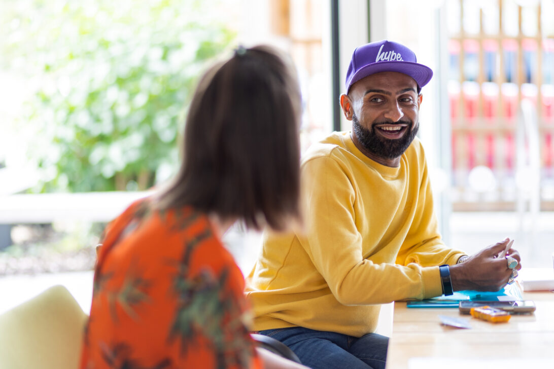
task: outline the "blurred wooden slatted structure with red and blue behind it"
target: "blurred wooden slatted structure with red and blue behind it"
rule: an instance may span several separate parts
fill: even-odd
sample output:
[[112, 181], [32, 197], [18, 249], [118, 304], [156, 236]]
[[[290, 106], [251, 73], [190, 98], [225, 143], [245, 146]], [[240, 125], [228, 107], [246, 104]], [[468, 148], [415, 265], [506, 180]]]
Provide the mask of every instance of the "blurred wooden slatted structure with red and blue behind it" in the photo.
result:
[[[521, 160], [518, 162], [518, 151], [538, 150], [541, 210], [552, 211], [554, 34], [546, 34], [542, 25], [554, 18], [554, 12], [544, 14], [540, 1], [522, 3], [525, 7], [513, 0], [488, 2], [487, 12], [485, 5], [479, 7], [478, 23], [474, 32], [469, 32], [464, 23], [468, 23], [466, 17], [476, 16], [475, 2], [455, 1], [450, 9], [456, 12], [459, 27], [449, 35], [453, 210], [515, 210], [521, 191], [518, 177], [525, 168]], [[473, 12], [466, 13], [468, 9]], [[533, 14], [531, 19], [529, 14]], [[517, 144], [522, 134], [521, 102], [525, 99], [534, 106], [538, 148], [529, 147], [525, 141]], [[469, 173], [478, 166], [493, 173], [494, 189], [471, 188]]]

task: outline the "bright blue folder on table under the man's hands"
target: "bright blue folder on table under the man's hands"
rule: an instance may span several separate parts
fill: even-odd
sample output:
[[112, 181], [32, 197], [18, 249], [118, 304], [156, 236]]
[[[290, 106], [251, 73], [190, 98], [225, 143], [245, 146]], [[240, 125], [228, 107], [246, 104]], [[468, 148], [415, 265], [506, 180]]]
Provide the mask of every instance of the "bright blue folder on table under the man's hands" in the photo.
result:
[[408, 301], [408, 308], [458, 308], [462, 300], [469, 301], [520, 301], [523, 300], [521, 288], [517, 283], [507, 284], [497, 292], [457, 291], [450, 296], [439, 296], [432, 299]]

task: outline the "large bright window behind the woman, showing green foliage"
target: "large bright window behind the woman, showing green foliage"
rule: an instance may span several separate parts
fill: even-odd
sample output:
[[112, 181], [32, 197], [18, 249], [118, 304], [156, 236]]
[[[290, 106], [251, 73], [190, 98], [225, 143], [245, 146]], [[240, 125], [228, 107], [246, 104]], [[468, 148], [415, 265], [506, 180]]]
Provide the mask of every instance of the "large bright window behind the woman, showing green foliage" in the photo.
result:
[[[329, 4], [0, 0], [0, 276], [90, 269], [105, 223], [175, 173], [197, 77], [239, 44], [293, 58], [302, 150], [330, 132]], [[256, 236], [227, 235], [244, 268]]]

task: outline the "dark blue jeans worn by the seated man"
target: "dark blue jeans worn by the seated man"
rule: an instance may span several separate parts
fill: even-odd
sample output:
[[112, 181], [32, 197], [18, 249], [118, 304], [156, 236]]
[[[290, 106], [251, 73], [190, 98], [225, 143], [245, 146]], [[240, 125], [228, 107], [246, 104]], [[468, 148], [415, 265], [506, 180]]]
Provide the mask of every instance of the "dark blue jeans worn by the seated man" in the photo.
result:
[[370, 333], [360, 338], [302, 327], [259, 331], [283, 342], [313, 369], [383, 369], [388, 337]]

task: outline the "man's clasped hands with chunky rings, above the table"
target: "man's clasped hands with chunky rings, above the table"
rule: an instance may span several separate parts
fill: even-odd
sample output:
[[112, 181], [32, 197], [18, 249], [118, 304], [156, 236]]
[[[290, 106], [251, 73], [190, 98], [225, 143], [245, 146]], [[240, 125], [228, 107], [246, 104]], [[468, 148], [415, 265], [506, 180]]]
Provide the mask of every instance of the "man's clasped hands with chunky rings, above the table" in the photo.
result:
[[[454, 291], [497, 291], [504, 287], [512, 274], [512, 269], [508, 268], [506, 258], [498, 255], [504, 251], [508, 242], [510, 239], [506, 238], [473, 254], [463, 263], [450, 266], [450, 279]], [[517, 250], [511, 248], [506, 255], [516, 259], [516, 269], [521, 269], [521, 257]]]

